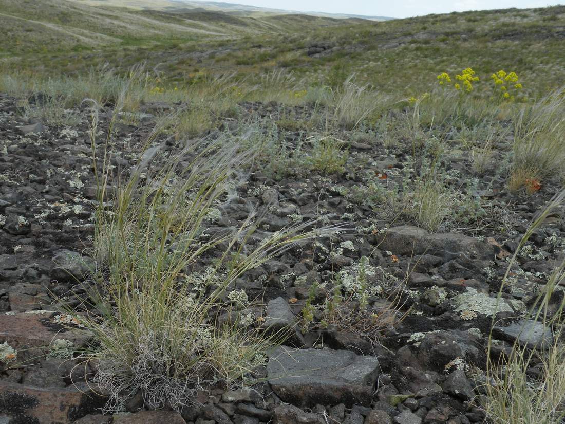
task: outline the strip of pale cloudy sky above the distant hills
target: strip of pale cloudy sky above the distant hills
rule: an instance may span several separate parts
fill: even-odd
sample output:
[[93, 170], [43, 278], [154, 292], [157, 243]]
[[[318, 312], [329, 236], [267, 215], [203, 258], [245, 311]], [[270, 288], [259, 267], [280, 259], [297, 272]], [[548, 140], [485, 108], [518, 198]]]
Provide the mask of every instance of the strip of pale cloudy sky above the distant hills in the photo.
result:
[[296, 11], [316, 11], [358, 15], [408, 16], [449, 13], [464, 10], [503, 9], [508, 7], [545, 7], [563, 4], [563, 0], [224, 0], [242, 5], [272, 7]]

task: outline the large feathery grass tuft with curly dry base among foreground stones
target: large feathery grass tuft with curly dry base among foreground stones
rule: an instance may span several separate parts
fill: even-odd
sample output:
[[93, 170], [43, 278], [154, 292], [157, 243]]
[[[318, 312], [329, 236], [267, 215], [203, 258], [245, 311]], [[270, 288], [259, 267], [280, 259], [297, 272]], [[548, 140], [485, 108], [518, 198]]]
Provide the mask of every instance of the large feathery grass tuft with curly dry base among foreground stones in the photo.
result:
[[[146, 408], [179, 409], [213, 383], [242, 384], [276, 337], [259, 332], [257, 321], [234, 316], [222, 301], [226, 289], [246, 271], [324, 230], [303, 222], [264, 234], [250, 214], [236, 228], [206, 233], [210, 211], [231, 200], [232, 172], [253, 153], [221, 140], [189, 143], [165, 155], [166, 142], [155, 146], [153, 138], [126, 178], [111, 174], [107, 146], [97, 151], [96, 134], [94, 110], [90, 135], [100, 202], [92, 280], [98, 289], [85, 302], [98, 313], [73, 316], [96, 340], [81, 356], [98, 363], [93, 383], [108, 395], [105, 409], [123, 409], [136, 393]], [[111, 211], [101, 201], [108, 196]], [[205, 254], [216, 258], [208, 271], [216, 276], [201, 284], [193, 275]], [[225, 266], [233, 254], [238, 261]]]

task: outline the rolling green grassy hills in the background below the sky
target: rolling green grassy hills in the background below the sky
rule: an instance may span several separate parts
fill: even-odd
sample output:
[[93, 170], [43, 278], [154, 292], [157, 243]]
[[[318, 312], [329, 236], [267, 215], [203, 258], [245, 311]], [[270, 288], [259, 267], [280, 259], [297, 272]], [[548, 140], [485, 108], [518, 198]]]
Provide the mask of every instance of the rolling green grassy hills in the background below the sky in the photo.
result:
[[34, 73], [82, 72], [105, 63], [125, 70], [146, 60], [182, 83], [195, 72], [255, 78], [284, 68], [298, 79], [334, 86], [355, 73], [379, 90], [408, 96], [435, 84], [442, 71], [471, 66], [487, 77], [499, 68], [520, 71], [524, 89], [536, 96], [562, 81], [565, 66], [563, 6], [385, 22], [116, 9], [64, 0], [0, 0], [0, 8], [1, 66]]

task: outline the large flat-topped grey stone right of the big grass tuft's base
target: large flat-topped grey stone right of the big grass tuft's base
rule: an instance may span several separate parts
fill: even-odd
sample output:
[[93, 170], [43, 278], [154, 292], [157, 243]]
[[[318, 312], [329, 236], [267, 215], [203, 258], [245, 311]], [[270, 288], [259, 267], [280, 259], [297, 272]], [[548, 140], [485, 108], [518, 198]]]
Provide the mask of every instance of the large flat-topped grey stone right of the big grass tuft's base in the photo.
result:
[[267, 378], [283, 401], [299, 405], [370, 405], [379, 360], [349, 351], [277, 347], [269, 354]]

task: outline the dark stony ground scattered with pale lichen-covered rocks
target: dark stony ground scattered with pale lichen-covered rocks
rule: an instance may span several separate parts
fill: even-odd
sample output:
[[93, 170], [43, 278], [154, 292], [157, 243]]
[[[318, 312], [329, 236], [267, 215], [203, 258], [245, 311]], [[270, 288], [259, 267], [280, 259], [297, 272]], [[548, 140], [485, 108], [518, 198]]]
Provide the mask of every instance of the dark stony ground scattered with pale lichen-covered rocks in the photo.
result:
[[[241, 107], [245, 114], [263, 118], [272, 113], [271, 106], [258, 103]], [[155, 111], [146, 109], [141, 124], [122, 122], [114, 129], [112, 149], [121, 152], [116, 166], [133, 164], [154, 127]], [[85, 110], [75, 112], [85, 118]], [[102, 134], [109, 116], [109, 110], [101, 114]], [[284, 136], [290, 145], [297, 140], [293, 131]], [[402, 179], [409, 151], [408, 146], [385, 149], [377, 139], [357, 137], [349, 142], [343, 173], [295, 173], [276, 180], [255, 169], [214, 226], [241, 222], [249, 205], [262, 211], [265, 231], [314, 218], [319, 211], [349, 223], [348, 230], [332, 239], [268, 262], [237, 287], [251, 299], [262, 299], [258, 308], [272, 325], [293, 328], [286, 346], [271, 352], [266, 382], [252, 390], [202, 393], [202, 406], [185, 408], [180, 415], [139, 411], [134, 397], [126, 405], [129, 413], [102, 416], [98, 408], [105, 399], [88, 386], [95, 365], [73, 359], [73, 349], [86, 344], [89, 334], [59, 312], [60, 304], [76, 304], [75, 296], [84, 290], [80, 283], [86, 269], [80, 256], [94, 229], [86, 120], [47, 127], [25, 120], [15, 99], [0, 96], [0, 422], [482, 422], [483, 413], [472, 399], [486, 382], [486, 341], [493, 318], [494, 338], [499, 340], [495, 356], [516, 338], [538, 345], [552, 337], [533, 321], [528, 337], [519, 335], [519, 329], [537, 287], [545, 283], [555, 259], [563, 257], [563, 215], [547, 219], [521, 250], [512, 284], [497, 303], [508, 258], [538, 207], [551, 197], [551, 187], [533, 196], [511, 196], [495, 170], [474, 188], [492, 218], [488, 224], [467, 231], [454, 222], [453, 231], [433, 234], [407, 219], [390, 224], [387, 211], [379, 210], [383, 206], [355, 201], [349, 193], [369, 182], [401, 187], [396, 179]], [[455, 185], [475, 178], [468, 157], [445, 166], [457, 179]], [[379, 178], [385, 171], [387, 178]], [[321, 305], [329, 291], [324, 283], [339, 275], [344, 284], [355, 284], [360, 267], [374, 288], [367, 315], [386, 315], [383, 311], [391, 304], [390, 298], [379, 296], [384, 292], [395, 293], [396, 311], [379, 326], [364, 325], [360, 318], [367, 317], [323, 323]], [[308, 305], [312, 316], [305, 320]], [[14, 366], [8, 347], [17, 351], [21, 365]], [[540, 369], [533, 366], [529, 373], [539, 374]]]

